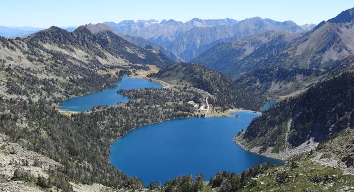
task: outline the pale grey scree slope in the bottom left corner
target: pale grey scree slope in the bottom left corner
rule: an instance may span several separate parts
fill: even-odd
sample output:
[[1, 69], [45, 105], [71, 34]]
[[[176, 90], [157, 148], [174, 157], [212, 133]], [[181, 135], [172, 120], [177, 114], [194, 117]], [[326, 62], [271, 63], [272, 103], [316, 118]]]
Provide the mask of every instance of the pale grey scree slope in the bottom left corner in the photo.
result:
[[[10, 138], [0, 133], [0, 191], [7, 192], [41, 192], [47, 191], [34, 183], [15, 181], [13, 176], [16, 170], [28, 174], [34, 179], [44, 177], [48, 179], [48, 169], [61, 168], [62, 164], [39, 153], [23, 149], [18, 143], [12, 143]], [[74, 191], [103, 191], [108, 187], [94, 183], [84, 185], [70, 182]], [[56, 187], [52, 187], [56, 189]], [[124, 191], [122, 189], [122, 191]]]

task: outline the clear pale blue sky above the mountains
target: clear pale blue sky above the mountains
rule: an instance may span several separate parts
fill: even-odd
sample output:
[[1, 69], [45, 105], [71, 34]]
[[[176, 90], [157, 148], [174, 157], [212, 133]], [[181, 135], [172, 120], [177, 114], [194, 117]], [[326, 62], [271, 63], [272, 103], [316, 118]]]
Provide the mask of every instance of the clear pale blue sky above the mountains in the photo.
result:
[[4, 0], [0, 25], [69, 26], [125, 19], [203, 19], [250, 17], [319, 23], [354, 7], [353, 0]]

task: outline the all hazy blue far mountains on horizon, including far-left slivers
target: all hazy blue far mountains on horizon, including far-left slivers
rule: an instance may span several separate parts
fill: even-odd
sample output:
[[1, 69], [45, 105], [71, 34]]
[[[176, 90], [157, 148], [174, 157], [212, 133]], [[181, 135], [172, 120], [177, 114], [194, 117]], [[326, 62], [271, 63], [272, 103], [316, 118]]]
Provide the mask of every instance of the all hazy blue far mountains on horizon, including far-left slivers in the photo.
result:
[[[140, 47], [151, 46], [169, 56], [173, 61], [190, 61], [209, 48], [221, 43], [268, 31], [303, 33], [315, 25], [296, 25], [292, 21], [278, 22], [271, 19], [254, 17], [237, 21], [234, 19], [199, 19], [187, 22], [173, 19], [157, 21], [124, 20], [119, 23], [103, 22], [99, 26], [88, 24], [93, 33], [108, 30]], [[105, 26], [107, 25], [107, 26]], [[69, 32], [74, 26], [63, 27]], [[0, 36], [9, 38], [26, 37], [41, 28], [0, 27]]]

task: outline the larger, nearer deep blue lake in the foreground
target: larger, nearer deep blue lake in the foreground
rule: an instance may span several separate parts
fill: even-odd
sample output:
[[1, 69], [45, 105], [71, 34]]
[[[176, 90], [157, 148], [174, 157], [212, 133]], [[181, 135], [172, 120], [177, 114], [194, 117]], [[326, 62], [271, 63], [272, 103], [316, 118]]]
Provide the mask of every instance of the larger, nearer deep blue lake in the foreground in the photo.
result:
[[240, 173], [260, 162], [282, 163], [243, 150], [232, 141], [239, 130], [259, 116], [251, 112], [236, 114], [238, 118], [186, 118], [135, 129], [112, 144], [111, 162], [128, 176], [142, 179], [145, 185], [198, 173], [209, 180], [218, 171]]

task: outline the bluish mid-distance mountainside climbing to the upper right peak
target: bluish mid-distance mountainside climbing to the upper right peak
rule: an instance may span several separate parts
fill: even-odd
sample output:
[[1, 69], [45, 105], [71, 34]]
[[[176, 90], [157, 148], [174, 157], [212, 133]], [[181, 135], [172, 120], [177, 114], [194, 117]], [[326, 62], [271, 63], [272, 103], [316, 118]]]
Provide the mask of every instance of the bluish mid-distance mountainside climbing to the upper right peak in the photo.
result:
[[195, 58], [233, 78], [264, 67], [326, 68], [354, 53], [354, 9], [303, 34], [265, 33], [218, 44]]

